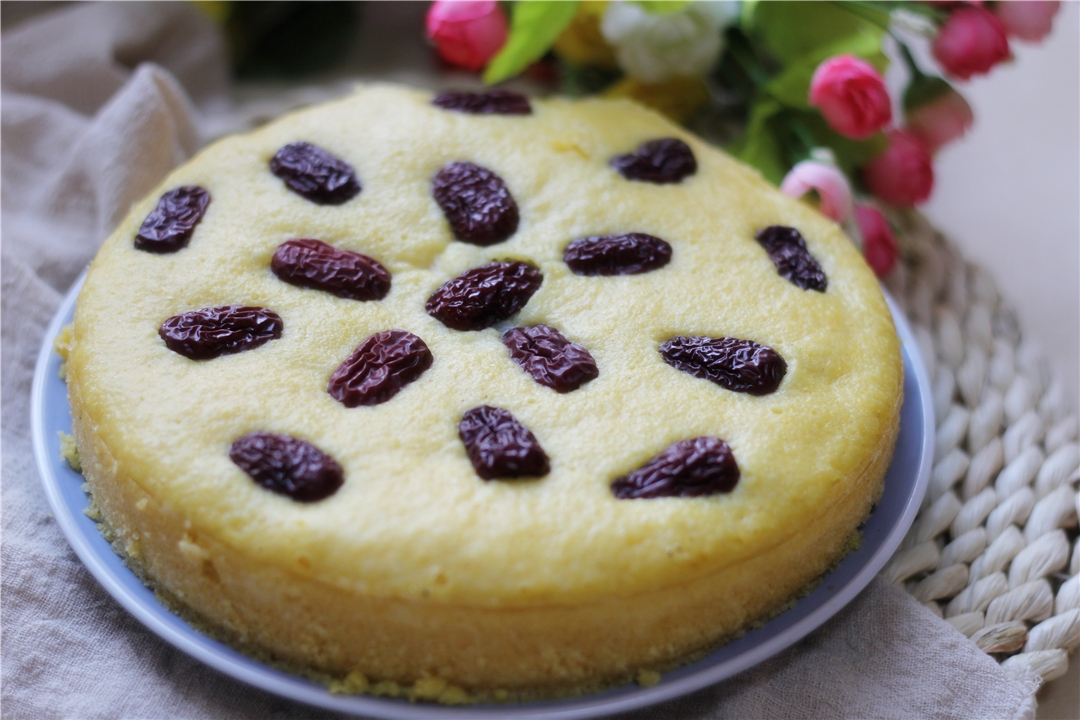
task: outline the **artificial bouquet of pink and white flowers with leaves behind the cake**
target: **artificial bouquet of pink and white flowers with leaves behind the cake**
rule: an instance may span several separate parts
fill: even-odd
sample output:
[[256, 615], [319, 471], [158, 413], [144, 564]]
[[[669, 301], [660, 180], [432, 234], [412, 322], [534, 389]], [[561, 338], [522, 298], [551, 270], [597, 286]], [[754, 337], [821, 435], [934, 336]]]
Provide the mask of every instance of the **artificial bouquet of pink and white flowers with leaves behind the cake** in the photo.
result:
[[[488, 84], [546, 66], [561, 92], [632, 97], [688, 124], [815, 202], [883, 276], [899, 255], [889, 216], [930, 198], [934, 153], [974, 120], [951, 83], [1042, 40], [1059, 5], [436, 0], [427, 33]], [[899, 98], [890, 62], [907, 71]]]

